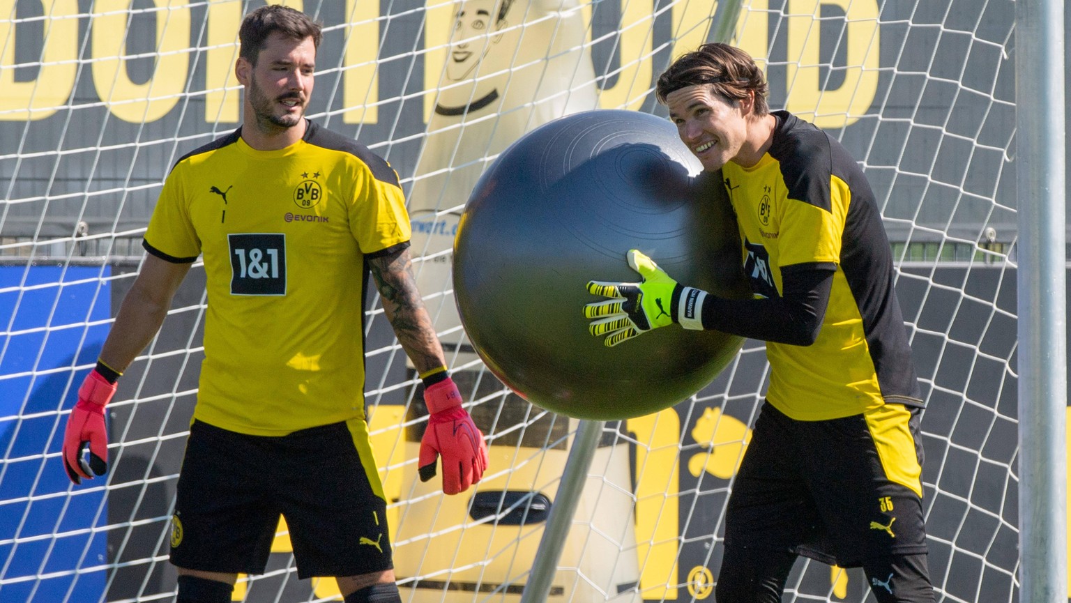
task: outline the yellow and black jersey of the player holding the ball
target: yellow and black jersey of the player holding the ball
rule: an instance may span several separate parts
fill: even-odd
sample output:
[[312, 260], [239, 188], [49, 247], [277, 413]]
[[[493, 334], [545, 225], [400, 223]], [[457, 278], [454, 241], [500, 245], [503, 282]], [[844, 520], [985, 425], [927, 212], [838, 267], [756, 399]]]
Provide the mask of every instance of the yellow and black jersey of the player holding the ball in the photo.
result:
[[745, 275], [756, 297], [772, 298], [794, 266], [835, 272], [815, 343], [767, 342], [767, 400], [802, 421], [859, 414], [884, 402], [921, 406], [892, 254], [862, 170], [820, 130], [786, 111], [773, 115], [778, 127], [761, 160], [722, 168]]

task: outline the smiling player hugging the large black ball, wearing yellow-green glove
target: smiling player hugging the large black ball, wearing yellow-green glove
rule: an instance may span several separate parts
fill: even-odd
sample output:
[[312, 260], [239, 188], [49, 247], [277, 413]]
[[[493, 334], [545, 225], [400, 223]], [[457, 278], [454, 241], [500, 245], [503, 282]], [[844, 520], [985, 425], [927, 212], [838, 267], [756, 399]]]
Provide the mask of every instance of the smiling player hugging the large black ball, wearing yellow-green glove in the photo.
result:
[[642, 281], [589, 283], [610, 299], [585, 315], [606, 345], [674, 322], [767, 342], [770, 386], [726, 510], [718, 603], [781, 601], [799, 555], [862, 567], [879, 603], [933, 602], [923, 403], [866, 178], [835, 139], [768, 109], [763, 73], [738, 48], [678, 58], [655, 92], [704, 170], [721, 170], [754, 296], [682, 286], [633, 250]]

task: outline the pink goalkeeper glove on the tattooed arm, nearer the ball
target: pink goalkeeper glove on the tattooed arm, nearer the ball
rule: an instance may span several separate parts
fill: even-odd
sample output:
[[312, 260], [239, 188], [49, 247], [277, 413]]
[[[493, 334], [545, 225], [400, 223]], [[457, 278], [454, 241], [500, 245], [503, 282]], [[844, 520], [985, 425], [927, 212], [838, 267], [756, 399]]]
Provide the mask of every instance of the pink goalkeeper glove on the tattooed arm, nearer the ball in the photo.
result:
[[480, 481], [487, 468], [487, 444], [467, 410], [454, 380], [447, 377], [424, 390], [427, 428], [420, 441], [420, 481], [435, 477], [442, 455], [442, 492], [458, 494]]

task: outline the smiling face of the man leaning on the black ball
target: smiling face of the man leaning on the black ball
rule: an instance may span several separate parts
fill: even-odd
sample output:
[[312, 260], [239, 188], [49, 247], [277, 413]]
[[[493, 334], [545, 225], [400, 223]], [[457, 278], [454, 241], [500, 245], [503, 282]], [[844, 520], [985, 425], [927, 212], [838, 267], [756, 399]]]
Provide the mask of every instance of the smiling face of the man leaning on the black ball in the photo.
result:
[[670, 92], [666, 106], [681, 141], [705, 170], [719, 170], [740, 154], [748, 136], [750, 105], [728, 101], [702, 85]]

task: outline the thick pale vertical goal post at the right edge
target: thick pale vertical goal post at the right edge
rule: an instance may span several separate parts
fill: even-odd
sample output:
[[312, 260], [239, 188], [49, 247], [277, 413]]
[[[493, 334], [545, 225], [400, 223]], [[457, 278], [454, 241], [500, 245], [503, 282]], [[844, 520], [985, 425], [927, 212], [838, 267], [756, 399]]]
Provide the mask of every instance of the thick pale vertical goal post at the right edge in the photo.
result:
[[1021, 598], [1062, 603], [1067, 427], [1054, 418], [1067, 408], [1064, 4], [1017, 3], [1015, 15]]

